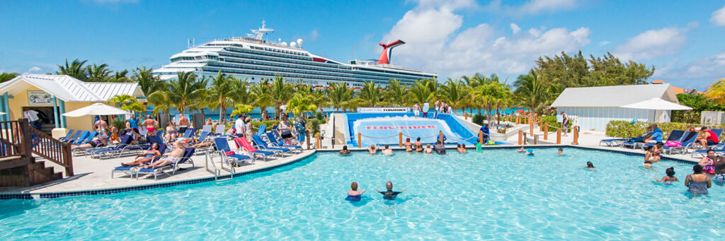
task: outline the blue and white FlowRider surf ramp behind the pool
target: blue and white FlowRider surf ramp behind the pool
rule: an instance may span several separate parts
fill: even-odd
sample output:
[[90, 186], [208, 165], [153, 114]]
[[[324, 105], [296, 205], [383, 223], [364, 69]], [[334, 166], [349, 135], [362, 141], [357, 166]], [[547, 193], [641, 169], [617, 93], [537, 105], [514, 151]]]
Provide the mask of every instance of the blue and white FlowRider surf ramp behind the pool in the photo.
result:
[[361, 113], [345, 116], [345, 134], [351, 137], [348, 145], [357, 145], [357, 133], [363, 135], [363, 146], [398, 145], [399, 132], [403, 133], [403, 141], [410, 138], [411, 142], [415, 142], [416, 138], [421, 138], [422, 143], [435, 143], [439, 131], [443, 132], [446, 143], [476, 143], [475, 133], [449, 114], [439, 114], [439, 119], [415, 118], [412, 113]]

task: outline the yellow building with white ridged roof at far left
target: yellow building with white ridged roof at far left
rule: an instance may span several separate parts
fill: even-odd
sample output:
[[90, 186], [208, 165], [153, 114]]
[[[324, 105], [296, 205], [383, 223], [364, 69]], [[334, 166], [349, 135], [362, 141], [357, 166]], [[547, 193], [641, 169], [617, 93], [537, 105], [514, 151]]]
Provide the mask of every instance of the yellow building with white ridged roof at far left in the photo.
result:
[[[67, 130], [91, 130], [94, 117], [64, 117], [94, 103], [107, 103], [117, 95], [134, 96], [145, 101], [138, 83], [86, 83], [67, 75], [21, 75], [0, 83], [0, 121], [28, 115], [38, 117], [39, 126], [52, 128], [54, 137]], [[36, 113], [33, 113], [35, 111]]]

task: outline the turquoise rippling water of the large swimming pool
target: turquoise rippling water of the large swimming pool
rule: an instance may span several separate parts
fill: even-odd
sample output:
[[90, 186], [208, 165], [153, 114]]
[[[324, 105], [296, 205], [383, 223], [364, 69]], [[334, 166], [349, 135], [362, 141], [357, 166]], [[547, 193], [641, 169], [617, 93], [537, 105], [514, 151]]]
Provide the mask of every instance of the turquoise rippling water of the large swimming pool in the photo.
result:
[[[684, 240], [721, 239], [725, 192], [689, 198], [656, 185], [671, 161], [566, 149], [446, 156], [320, 153], [223, 185], [113, 195], [0, 200], [0, 240]], [[594, 162], [596, 172], [584, 169]], [[374, 188], [405, 187], [385, 201]], [[344, 200], [349, 183], [367, 190]]]

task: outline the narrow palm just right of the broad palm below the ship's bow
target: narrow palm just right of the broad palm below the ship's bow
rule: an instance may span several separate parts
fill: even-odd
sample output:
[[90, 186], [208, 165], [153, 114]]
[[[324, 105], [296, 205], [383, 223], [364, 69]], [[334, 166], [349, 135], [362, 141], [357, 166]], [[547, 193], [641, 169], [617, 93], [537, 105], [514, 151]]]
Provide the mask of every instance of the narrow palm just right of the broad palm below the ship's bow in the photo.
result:
[[207, 88], [208, 93], [204, 100], [206, 103], [205, 106], [210, 110], [219, 109], [219, 120], [226, 119], [227, 107], [234, 105], [231, 81], [239, 80], [220, 71], [217, 73], [217, 76], [211, 78], [211, 85]]

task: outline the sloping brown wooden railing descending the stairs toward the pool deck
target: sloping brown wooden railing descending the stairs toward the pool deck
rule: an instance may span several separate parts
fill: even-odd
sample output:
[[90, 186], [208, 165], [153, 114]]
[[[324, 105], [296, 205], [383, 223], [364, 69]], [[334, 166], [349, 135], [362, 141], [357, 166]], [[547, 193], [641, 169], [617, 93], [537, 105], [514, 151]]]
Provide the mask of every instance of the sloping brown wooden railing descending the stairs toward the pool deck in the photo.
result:
[[28, 125], [30, 138], [33, 140], [33, 154], [36, 154], [48, 161], [63, 166], [65, 176], [73, 175], [73, 155], [70, 151], [70, 143], [59, 141], [40, 130]]

